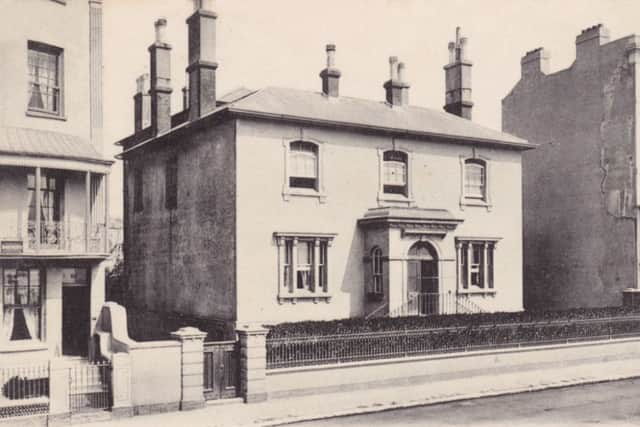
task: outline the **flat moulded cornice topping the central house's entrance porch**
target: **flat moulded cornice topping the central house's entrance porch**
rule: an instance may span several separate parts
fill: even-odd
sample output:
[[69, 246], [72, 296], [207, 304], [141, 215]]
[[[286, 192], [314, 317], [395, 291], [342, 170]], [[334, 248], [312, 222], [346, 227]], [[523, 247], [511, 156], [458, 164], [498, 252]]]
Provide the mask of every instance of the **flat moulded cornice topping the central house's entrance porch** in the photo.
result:
[[408, 207], [372, 208], [358, 219], [363, 229], [400, 228], [405, 234], [445, 235], [456, 229], [464, 220], [453, 216], [446, 209]]

